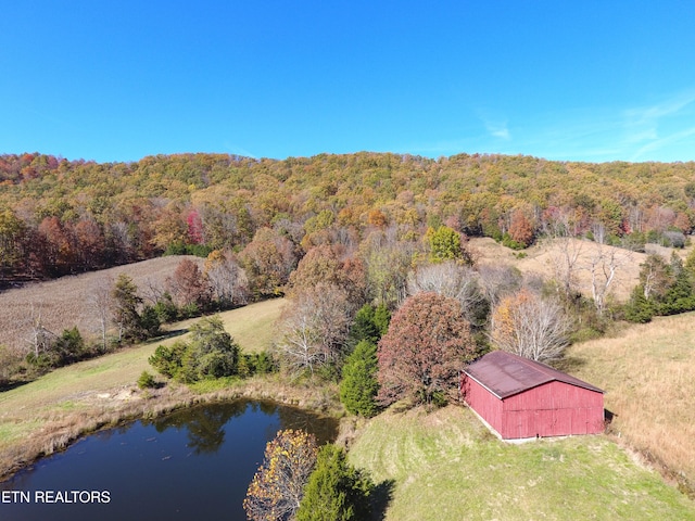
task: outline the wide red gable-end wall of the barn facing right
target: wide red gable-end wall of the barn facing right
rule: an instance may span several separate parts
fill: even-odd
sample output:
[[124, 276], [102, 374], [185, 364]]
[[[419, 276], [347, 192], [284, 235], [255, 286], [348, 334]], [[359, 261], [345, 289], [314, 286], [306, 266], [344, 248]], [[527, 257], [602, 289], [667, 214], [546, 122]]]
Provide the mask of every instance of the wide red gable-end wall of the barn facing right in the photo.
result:
[[604, 396], [553, 381], [503, 401], [504, 439], [597, 434], [604, 430]]

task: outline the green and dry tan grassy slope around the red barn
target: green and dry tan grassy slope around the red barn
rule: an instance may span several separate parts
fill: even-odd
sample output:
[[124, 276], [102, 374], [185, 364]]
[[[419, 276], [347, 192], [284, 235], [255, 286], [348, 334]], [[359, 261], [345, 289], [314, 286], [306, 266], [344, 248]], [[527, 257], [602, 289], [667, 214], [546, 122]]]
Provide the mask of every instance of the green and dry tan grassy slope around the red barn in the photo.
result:
[[608, 435], [511, 445], [451, 406], [370, 420], [350, 458], [392, 481], [386, 519], [695, 519], [675, 486], [695, 481], [695, 314], [573, 345], [563, 368], [606, 391]]

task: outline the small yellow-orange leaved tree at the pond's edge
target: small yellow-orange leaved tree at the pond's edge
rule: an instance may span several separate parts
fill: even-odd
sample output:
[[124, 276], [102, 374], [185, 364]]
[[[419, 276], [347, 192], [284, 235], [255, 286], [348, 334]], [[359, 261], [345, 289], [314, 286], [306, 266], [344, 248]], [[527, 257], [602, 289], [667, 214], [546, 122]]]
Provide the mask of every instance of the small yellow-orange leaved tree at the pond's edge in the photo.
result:
[[313, 434], [278, 431], [265, 447], [243, 508], [252, 521], [290, 519], [300, 508], [304, 487], [316, 466], [318, 446]]

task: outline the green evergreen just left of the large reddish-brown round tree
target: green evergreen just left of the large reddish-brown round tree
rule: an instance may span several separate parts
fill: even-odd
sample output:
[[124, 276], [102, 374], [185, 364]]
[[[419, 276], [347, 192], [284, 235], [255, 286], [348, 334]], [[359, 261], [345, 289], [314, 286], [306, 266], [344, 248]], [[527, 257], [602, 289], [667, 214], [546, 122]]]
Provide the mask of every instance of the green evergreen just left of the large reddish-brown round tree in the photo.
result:
[[353, 415], [370, 418], [377, 414], [377, 346], [367, 340], [359, 342], [343, 366], [340, 401]]

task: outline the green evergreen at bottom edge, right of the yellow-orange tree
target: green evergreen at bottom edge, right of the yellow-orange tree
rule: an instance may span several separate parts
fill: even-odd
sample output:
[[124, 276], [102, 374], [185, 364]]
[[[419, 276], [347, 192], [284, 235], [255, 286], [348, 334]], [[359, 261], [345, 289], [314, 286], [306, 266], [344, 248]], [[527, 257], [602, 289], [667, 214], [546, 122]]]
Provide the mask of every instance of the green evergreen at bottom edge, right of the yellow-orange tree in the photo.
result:
[[375, 485], [368, 474], [355, 469], [336, 445], [318, 450], [316, 469], [304, 488], [296, 521], [351, 521], [369, 519]]

